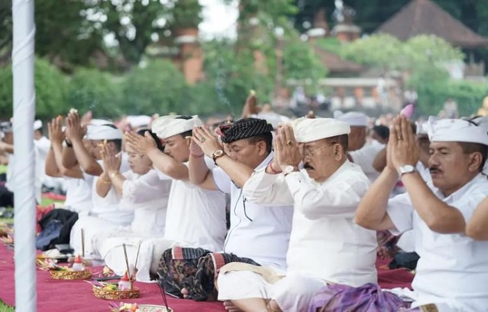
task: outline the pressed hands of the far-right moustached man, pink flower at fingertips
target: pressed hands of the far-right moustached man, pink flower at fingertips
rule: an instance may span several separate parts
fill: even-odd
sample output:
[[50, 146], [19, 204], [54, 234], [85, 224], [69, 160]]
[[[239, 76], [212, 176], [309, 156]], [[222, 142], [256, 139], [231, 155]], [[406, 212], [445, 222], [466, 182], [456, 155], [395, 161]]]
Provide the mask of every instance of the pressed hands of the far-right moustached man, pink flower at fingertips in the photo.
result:
[[409, 120], [403, 115], [397, 116], [390, 129], [386, 165], [390, 170], [398, 172], [401, 166], [415, 166], [419, 157], [420, 150]]

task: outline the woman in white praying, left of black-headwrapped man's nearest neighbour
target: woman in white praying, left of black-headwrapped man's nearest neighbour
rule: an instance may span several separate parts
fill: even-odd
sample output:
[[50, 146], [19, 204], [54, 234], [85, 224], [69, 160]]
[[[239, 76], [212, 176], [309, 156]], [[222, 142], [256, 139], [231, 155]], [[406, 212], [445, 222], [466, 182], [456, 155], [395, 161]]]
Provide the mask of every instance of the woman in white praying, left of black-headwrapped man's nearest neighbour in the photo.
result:
[[[140, 130], [143, 135], [148, 130]], [[151, 133], [151, 132], [150, 132]], [[158, 148], [160, 140], [152, 134]], [[126, 245], [128, 260], [135, 264], [137, 253], [137, 280], [149, 281], [149, 267], [155, 240], [165, 233], [165, 219], [171, 180], [161, 180], [153, 169], [153, 163], [145, 155], [126, 149], [130, 171], [120, 173], [119, 159], [113, 153], [103, 153], [104, 170], [110, 178], [111, 187], [121, 196], [120, 209], [134, 210], [134, 220], [130, 226], [119, 226], [101, 231], [95, 239], [95, 248], [105, 260], [105, 264], [117, 274], [126, 270], [123, 244]], [[158, 242], [160, 244], [161, 242]], [[140, 244], [140, 250], [139, 250]], [[169, 245], [168, 245], [169, 247]]]

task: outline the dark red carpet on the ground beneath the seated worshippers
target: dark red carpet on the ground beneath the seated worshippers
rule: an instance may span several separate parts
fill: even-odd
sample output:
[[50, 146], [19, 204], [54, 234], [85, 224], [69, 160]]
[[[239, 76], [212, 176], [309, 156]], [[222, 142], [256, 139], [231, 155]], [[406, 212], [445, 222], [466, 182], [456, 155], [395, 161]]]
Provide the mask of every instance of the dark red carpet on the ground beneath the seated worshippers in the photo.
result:
[[[410, 287], [413, 275], [402, 269], [387, 270], [388, 260], [379, 260], [379, 284], [382, 288]], [[0, 244], [0, 299], [6, 304], [15, 303], [13, 251]], [[139, 304], [162, 304], [158, 286], [135, 283], [141, 290], [139, 299], [125, 300]], [[98, 299], [91, 292], [91, 285], [84, 281], [57, 281], [49, 272], [37, 270], [38, 311], [109, 311], [109, 300]], [[224, 312], [221, 302], [194, 302], [168, 297], [168, 305], [175, 312]]]

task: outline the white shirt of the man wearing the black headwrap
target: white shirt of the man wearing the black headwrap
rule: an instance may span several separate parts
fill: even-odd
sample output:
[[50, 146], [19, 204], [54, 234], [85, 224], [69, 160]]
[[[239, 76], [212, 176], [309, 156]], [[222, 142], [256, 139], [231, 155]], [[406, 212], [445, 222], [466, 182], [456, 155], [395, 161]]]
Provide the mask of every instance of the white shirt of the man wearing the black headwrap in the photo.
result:
[[[273, 153], [270, 153], [256, 169], [266, 167], [272, 159]], [[221, 168], [213, 169], [212, 176], [218, 189], [231, 194], [231, 227], [224, 252], [284, 270], [287, 267], [293, 207], [270, 207], [248, 201], [243, 189], [238, 188]]]

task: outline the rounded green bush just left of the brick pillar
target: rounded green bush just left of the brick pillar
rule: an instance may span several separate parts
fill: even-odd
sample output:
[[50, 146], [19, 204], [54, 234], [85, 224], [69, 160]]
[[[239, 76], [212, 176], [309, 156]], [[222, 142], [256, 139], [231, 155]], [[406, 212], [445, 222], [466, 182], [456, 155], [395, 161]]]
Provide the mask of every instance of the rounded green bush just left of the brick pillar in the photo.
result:
[[183, 103], [186, 91], [185, 78], [171, 61], [155, 60], [144, 68], [133, 68], [123, 88], [124, 114], [183, 113], [188, 104]]

